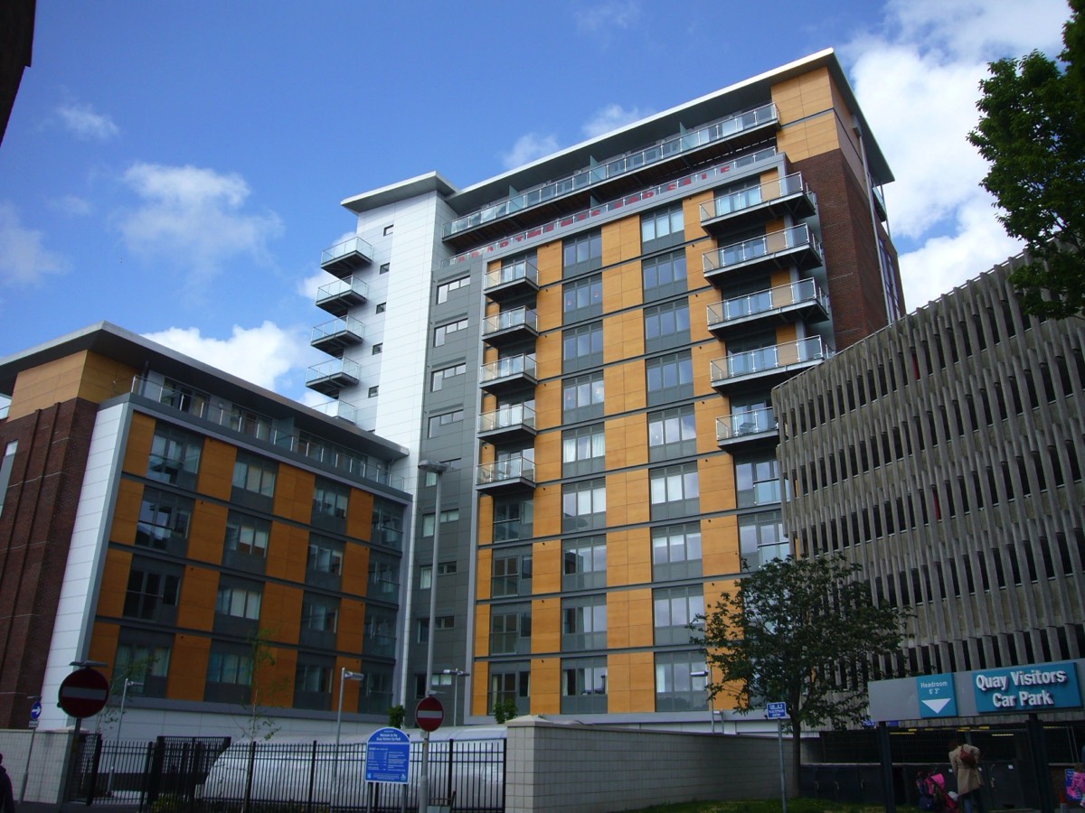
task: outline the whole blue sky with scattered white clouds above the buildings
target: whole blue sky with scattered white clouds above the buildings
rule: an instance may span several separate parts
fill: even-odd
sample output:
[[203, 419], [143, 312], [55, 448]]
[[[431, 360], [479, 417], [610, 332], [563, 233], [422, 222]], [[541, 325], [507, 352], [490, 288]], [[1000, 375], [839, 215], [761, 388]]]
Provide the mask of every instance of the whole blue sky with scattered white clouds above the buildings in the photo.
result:
[[966, 141], [1065, 0], [38, 0], [0, 144], [0, 358], [113, 322], [291, 398], [346, 197], [506, 169], [833, 48], [908, 310], [1017, 254]]

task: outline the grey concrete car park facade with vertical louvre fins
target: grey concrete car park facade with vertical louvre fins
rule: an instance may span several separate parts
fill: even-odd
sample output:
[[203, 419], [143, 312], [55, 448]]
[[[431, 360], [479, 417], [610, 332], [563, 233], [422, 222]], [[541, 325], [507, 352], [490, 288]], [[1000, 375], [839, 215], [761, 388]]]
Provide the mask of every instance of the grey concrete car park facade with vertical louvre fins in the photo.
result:
[[1085, 657], [1085, 323], [1023, 314], [1021, 262], [773, 392], [797, 553], [916, 615], [885, 676]]

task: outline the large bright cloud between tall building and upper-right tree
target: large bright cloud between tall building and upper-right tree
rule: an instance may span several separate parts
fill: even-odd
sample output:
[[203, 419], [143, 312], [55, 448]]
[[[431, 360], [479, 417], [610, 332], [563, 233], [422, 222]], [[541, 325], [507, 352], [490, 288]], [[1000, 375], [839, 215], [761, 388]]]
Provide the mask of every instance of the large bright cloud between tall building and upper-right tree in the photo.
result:
[[[890, 0], [884, 31], [841, 50], [896, 181], [885, 188], [909, 309], [1020, 250], [980, 186], [966, 137], [986, 63], [1059, 50], [1063, 0]], [[910, 248], [910, 250], [909, 250]]]

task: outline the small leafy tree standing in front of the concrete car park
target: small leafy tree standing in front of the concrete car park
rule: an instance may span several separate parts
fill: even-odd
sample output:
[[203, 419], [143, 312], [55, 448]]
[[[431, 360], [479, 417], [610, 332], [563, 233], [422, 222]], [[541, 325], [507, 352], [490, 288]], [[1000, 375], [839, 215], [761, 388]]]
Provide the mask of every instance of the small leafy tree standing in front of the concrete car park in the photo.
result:
[[743, 576], [691, 628], [719, 679], [709, 682], [712, 697], [733, 696], [741, 714], [787, 702], [797, 777], [803, 730], [861, 719], [872, 659], [899, 647], [906, 619], [876, 605], [859, 566], [842, 556], [789, 557]]

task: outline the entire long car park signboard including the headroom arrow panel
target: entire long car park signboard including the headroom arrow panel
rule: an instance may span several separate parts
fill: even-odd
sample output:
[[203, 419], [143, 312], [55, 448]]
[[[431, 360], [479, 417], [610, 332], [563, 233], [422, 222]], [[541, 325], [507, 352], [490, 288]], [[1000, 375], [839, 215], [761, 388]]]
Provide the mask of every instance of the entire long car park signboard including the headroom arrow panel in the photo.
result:
[[871, 681], [870, 719], [929, 720], [1082, 708], [1085, 660]]

